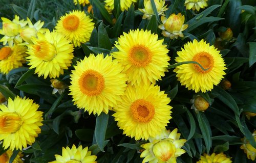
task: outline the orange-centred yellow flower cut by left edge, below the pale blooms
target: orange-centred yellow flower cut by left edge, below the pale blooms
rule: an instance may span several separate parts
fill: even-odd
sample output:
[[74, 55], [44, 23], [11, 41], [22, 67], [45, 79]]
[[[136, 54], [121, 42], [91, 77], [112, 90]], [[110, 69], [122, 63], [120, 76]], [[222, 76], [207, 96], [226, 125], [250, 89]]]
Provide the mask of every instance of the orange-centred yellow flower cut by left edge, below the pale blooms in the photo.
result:
[[12, 69], [22, 67], [26, 62], [27, 48], [25, 46], [4, 46], [0, 49], [0, 72], [9, 73]]

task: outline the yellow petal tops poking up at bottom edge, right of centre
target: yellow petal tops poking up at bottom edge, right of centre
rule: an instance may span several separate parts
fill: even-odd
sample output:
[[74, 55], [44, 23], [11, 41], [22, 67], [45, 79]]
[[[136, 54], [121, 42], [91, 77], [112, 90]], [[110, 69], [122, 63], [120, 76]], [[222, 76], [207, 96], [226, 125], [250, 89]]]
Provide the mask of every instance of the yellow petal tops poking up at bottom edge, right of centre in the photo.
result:
[[212, 153], [211, 155], [207, 155], [204, 153], [203, 156], [201, 156], [200, 160], [197, 161], [197, 163], [231, 163], [231, 158], [227, 157], [223, 152], [216, 154]]

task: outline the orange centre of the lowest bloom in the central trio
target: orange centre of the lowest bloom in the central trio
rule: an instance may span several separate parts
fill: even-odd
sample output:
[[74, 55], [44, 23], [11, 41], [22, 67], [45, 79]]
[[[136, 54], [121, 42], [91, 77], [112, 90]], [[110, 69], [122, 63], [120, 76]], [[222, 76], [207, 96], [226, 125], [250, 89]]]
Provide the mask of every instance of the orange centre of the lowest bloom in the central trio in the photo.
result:
[[131, 106], [133, 118], [141, 123], [150, 122], [155, 115], [155, 108], [151, 102], [144, 99], [134, 101]]

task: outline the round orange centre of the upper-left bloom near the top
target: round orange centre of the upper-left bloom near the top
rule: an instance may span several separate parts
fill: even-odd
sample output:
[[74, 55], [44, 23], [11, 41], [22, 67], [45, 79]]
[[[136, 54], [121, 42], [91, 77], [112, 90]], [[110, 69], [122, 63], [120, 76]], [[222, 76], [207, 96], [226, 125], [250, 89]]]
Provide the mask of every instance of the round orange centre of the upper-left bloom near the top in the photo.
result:
[[68, 31], [75, 31], [79, 26], [80, 20], [76, 15], [69, 15], [63, 19], [62, 25]]

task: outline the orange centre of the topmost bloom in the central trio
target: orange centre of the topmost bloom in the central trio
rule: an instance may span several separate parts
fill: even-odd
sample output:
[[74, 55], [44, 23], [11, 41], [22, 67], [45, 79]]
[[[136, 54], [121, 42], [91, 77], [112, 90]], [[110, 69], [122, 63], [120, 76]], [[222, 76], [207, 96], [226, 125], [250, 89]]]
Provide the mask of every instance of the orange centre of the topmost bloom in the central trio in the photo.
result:
[[137, 67], [146, 67], [152, 60], [152, 52], [144, 45], [135, 45], [128, 52], [128, 59]]

